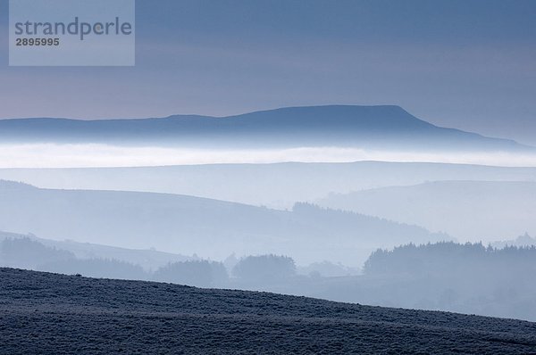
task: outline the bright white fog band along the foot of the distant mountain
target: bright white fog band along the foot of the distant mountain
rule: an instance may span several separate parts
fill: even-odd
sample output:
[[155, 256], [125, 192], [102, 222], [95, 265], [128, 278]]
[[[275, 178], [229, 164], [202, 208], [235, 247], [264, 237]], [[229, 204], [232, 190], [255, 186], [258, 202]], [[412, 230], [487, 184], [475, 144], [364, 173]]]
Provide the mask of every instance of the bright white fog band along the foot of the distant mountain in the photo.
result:
[[113, 144], [0, 144], [3, 168], [88, 168], [135, 167], [217, 163], [273, 163], [283, 161], [436, 161], [458, 164], [484, 164], [506, 167], [536, 167], [535, 153], [463, 153], [417, 149], [400, 151], [385, 148], [302, 146], [294, 148], [195, 148], [188, 146]]

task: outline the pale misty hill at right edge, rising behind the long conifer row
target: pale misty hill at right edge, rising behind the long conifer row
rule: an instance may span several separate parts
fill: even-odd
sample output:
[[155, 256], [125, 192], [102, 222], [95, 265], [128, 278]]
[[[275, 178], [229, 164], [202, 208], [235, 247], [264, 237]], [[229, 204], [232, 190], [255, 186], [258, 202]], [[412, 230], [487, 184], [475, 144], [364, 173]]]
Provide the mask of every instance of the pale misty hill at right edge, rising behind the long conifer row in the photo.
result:
[[536, 234], [536, 183], [530, 181], [436, 181], [331, 194], [318, 203], [473, 241]]

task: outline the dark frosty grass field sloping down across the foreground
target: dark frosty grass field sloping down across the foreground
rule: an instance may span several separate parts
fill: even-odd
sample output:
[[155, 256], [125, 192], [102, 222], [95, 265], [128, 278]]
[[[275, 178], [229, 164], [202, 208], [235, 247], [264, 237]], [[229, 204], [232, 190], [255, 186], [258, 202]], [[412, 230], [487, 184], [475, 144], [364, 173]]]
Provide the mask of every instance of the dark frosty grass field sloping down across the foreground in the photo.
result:
[[0, 268], [0, 354], [536, 354], [536, 323]]

